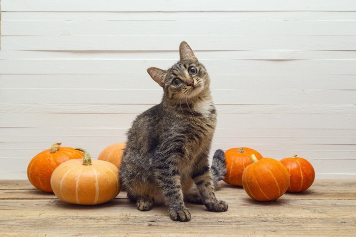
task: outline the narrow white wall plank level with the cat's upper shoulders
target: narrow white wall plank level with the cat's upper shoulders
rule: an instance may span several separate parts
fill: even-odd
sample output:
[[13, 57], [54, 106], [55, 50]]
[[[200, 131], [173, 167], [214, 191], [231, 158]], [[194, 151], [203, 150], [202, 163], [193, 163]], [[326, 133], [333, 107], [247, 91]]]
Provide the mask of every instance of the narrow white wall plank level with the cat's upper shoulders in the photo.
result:
[[[153, 105], [0, 104], [1, 113], [140, 114]], [[222, 114], [355, 114], [356, 105], [215, 105]], [[2, 128], [0, 128], [1, 130]]]

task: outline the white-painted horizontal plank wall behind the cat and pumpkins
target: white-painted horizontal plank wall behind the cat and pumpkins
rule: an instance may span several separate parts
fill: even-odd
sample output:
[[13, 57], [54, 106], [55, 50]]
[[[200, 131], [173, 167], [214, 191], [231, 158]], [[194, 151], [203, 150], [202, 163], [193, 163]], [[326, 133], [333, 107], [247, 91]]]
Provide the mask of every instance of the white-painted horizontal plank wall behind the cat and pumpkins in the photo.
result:
[[212, 78], [213, 150], [296, 153], [356, 178], [356, 1], [2, 0], [0, 179], [52, 143], [94, 157], [160, 102], [187, 41]]

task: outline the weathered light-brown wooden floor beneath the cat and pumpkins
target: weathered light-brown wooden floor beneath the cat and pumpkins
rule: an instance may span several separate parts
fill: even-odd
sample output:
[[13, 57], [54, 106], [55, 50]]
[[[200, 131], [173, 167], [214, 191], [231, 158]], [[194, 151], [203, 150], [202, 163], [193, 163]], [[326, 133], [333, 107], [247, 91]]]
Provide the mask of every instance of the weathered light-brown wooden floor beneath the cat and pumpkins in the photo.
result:
[[125, 192], [106, 204], [79, 206], [27, 181], [0, 181], [0, 235], [356, 235], [356, 180], [317, 180], [304, 193], [263, 203], [227, 184], [216, 195], [227, 212], [187, 204], [191, 221], [173, 222], [166, 207], [137, 211]]

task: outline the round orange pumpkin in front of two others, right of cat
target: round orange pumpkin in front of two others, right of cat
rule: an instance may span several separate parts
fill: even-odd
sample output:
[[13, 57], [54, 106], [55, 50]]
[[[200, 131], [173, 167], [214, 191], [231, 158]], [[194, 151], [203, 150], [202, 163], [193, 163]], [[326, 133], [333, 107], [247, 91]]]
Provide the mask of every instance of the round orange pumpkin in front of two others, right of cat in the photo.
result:
[[287, 168], [278, 160], [251, 156], [252, 164], [242, 175], [242, 184], [247, 194], [258, 201], [277, 200], [289, 187]]

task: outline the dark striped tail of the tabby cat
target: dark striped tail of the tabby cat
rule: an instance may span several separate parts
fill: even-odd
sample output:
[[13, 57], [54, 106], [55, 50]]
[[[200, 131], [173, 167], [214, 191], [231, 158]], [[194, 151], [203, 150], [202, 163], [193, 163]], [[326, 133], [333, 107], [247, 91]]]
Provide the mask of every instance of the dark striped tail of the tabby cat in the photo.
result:
[[211, 173], [212, 173], [215, 189], [218, 187], [219, 182], [225, 178], [226, 172], [227, 170], [226, 170], [225, 153], [223, 150], [218, 149], [214, 153], [213, 162], [211, 166]]

